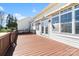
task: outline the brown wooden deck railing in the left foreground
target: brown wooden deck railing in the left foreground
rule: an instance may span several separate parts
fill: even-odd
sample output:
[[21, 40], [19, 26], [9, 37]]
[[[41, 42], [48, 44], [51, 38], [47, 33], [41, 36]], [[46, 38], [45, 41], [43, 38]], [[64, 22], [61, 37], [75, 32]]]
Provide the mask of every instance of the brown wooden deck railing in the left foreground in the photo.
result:
[[8, 48], [14, 43], [16, 40], [16, 32], [9, 32], [5, 35], [0, 36], [0, 56], [3, 56]]

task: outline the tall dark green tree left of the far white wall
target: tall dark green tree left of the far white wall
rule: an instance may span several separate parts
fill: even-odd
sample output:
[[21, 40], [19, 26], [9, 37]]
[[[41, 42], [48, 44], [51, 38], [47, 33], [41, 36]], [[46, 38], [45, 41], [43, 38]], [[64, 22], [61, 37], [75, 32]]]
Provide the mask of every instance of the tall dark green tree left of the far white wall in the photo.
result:
[[12, 15], [8, 14], [6, 22], [7, 22], [6, 26], [9, 29], [17, 29], [17, 19], [16, 19], [16, 17], [13, 17]]

